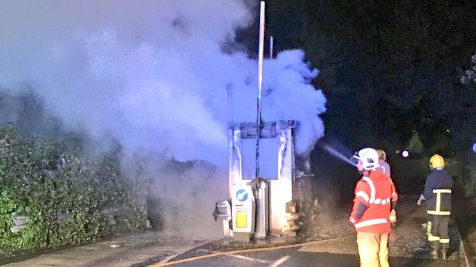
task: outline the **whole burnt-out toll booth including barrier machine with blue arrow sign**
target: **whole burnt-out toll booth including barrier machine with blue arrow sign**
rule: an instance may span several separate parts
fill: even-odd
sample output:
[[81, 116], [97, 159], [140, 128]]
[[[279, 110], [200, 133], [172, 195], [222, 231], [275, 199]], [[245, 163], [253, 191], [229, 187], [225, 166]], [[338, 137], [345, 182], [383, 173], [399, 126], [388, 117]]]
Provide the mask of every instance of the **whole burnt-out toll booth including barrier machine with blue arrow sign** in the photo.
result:
[[229, 197], [219, 201], [215, 218], [225, 237], [238, 240], [295, 236], [298, 214], [311, 208], [308, 158], [295, 153], [297, 121], [262, 123], [259, 185], [256, 123], [229, 125]]

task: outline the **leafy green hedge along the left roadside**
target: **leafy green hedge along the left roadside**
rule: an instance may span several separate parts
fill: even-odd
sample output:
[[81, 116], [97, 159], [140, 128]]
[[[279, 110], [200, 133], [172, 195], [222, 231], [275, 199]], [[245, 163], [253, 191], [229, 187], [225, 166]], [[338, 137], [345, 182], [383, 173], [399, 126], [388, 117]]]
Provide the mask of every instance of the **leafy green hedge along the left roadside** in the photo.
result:
[[[140, 178], [121, 171], [119, 144], [94, 158], [71, 148], [67, 141], [24, 140], [0, 127], [1, 252], [149, 227], [146, 189]], [[28, 217], [18, 233], [10, 231], [14, 212]]]

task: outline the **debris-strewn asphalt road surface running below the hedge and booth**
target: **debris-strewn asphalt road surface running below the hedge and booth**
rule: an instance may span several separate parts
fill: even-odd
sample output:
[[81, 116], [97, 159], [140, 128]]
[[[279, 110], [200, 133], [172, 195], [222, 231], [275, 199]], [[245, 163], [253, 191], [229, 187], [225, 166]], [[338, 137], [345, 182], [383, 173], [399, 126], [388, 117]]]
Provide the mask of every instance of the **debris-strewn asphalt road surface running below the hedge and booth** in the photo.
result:
[[[402, 197], [397, 206], [398, 222], [390, 235], [390, 264], [399, 266], [458, 266], [461, 262], [456, 225], [451, 224], [449, 260], [433, 259], [426, 246], [424, 206], [416, 206], [413, 197]], [[312, 243], [292, 248], [267, 244], [262, 249], [249, 243], [222, 240], [208, 242], [166, 236], [157, 232], [119, 235], [111, 240], [66, 249], [54, 249], [42, 255], [21, 258], [11, 255], [9, 266], [159, 266], [178, 260], [216, 252], [225, 253], [170, 266], [241, 267], [241, 266], [358, 266], [355, 231], [347, 222], [348, 209], [332, 209], [332, 214], [318, 214], [313, 226]], [[306, 242], [306, 241], [303, 241]], [[287, 243], [289, 244], [289, 243]], [[274, 246], [274, 247], [273, 247]], [[259, 249], [253, 252], [226, 251]], [[8, 259], [6, 259], [8, 260]], [[3, 262], [5, 264], [6, 262]], [[1, 262], [0, 262], [1, 264]]]

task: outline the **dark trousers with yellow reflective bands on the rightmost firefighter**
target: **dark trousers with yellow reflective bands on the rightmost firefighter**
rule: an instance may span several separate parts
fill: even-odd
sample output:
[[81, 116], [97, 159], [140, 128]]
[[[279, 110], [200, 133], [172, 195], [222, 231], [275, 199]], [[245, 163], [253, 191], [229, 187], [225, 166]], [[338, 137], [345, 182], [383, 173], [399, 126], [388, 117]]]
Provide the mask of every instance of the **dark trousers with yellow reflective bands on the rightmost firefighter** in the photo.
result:
[[448, 233], [448, 224], [450, 216], [428, 214], [428, 225], [426, 234], [428, 241], [434, 249], [448, 249], [450, 245], [450, 235]]

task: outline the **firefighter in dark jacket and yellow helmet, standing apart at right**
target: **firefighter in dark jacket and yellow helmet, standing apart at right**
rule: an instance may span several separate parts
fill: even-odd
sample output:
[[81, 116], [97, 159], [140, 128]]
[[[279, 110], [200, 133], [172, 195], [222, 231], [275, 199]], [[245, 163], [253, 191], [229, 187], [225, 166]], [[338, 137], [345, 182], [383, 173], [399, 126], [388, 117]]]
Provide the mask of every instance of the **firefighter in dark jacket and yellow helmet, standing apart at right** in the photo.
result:
[[432, 244], [432, 254], [438, 257], [438, 250], [441, 249], [442, 258], [446, 259], [447, 249], [450, 243], [448, 234], [448, 223], [451, 212], [451, 189], [453, 179], [444, 170], [445, 161], [440, 155], [434, 155], [430, 159], [432, 173], [428, 175], [425, 182], [425, 189], [418, 199], [420, 205], [422, 200], [427, 201], [427, 237]]

